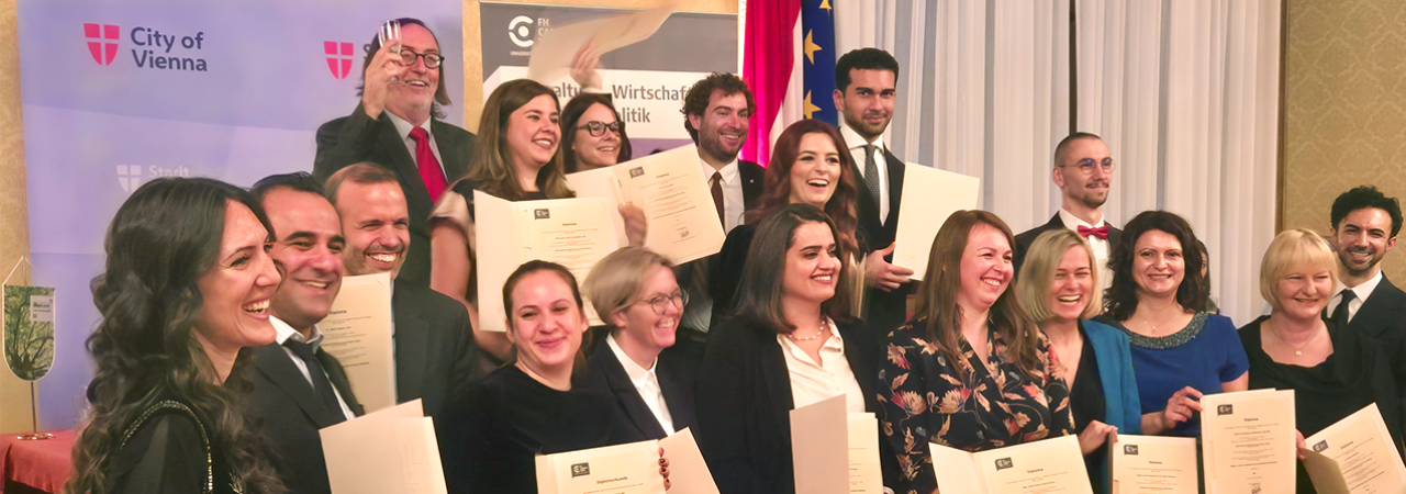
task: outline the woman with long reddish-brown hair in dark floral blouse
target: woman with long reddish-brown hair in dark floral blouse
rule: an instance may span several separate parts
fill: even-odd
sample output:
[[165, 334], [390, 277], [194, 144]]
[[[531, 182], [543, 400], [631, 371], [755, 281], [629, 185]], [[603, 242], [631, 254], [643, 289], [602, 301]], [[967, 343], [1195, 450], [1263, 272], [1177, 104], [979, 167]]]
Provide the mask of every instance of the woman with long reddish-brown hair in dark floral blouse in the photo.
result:
[[953, 213], [932, 243], [914, 319], [889, 334], [877, 392], [896, 493], [938, 488], [929, 441], [976, 452], [1074, 434], [1049, 341], [1007, 293], [1012, 244], [995, 215]]

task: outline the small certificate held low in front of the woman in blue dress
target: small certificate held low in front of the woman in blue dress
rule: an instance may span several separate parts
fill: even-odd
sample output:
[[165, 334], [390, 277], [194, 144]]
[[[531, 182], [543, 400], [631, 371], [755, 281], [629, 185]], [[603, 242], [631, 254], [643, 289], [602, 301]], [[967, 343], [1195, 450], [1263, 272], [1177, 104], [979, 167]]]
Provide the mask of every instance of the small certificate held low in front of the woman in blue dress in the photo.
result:
[[1108, 448], [1114, 494], [1197, 494], [1197, 439], [1118, 435]]

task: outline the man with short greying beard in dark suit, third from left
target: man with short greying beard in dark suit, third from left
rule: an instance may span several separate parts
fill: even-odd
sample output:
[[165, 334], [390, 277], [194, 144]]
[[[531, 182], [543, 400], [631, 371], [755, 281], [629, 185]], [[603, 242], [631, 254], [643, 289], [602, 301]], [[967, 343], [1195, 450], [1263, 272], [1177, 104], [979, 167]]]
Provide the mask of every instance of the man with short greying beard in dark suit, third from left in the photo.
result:
[[332, 174], [326, 188], [342, 216], [346, 236], [342, 261], [347, 274], [391, 274], [396, 401], [422, 399], [425, 414], [436, 417], [477, 378], [478, 348], [468, 312], [429, 286], [401, 281], [398, 272], [412, 240], [405, 195], [395, 174], [359, 163]]

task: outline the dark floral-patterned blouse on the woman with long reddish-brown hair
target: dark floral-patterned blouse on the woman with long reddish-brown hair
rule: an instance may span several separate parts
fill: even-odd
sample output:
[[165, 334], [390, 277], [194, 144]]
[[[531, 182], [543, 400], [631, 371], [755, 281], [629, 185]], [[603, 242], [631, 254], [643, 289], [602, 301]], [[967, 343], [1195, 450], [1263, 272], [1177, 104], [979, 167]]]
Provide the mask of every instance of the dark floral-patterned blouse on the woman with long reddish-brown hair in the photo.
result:
[[950, 365], [928, 344], [922, 324], [917, 320], [890, 333], [887, 358], [879, 363], [879, 421], [901, 473], [891, 486], [896, 493], [938, 488], [929, 441], [977, 452], [1074, 434], [1069, 385], [1045, 333], [1036, 342], [1043, 369], [1026, 379], [1002, 356], [1001, 331], [990, 328], [987, 334], [987, 363], [1000, 370], [993, 376], [965, 338], [957, 341], [966, 361], [959, 368]]

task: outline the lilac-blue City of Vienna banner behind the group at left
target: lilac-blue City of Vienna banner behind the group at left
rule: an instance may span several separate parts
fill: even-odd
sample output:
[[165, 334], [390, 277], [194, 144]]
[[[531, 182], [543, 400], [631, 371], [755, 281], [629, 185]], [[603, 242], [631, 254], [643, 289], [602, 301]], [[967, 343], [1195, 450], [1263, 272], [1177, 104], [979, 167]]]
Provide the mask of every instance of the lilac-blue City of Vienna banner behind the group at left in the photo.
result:
[[382, 21], [423, 20], [447, 56], [440, 84], [463, 125], [460, 0], [20, 0], [20, 70], [35, 285], [58, 289], [46, 429], [69, 428], [98, 314], [89, 282], [117, 208], [157, 177], [240, 187], [312, 170], [315, 132], [350, 115]]

